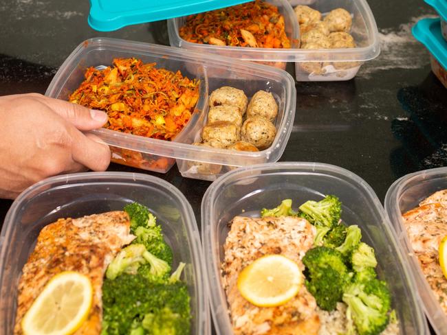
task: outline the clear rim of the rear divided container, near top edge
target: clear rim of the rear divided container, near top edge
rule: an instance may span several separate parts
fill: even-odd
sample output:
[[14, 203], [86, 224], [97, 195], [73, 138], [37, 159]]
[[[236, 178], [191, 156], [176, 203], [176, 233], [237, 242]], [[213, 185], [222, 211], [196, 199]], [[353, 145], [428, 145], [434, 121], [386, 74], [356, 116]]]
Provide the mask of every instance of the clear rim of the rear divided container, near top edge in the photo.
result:
[[[285, 6], [286, 10], [291, 10], [294, 12], [292, 5], [287, 0], [280, 0], [282, 5]], [[322, 60], [331, 62], [364, 62], [367, 60], [372, 60], [379, 56], [380, 54], [380, 42], [379, 42], [379, 32], [377, 23], [371, 8], [369, 7], [366, 0], [353, 0], [359, 8], [364, 12], [365, 25], [369, 30], [371, 30], [371, 43], [366, 47], [356, 47], [348, 49], [274, 49], [274, 48], [246, 48], [246, 47], [231, 47], [231, 46], [219, 46], [219, 45], [204, 45], [191, 43], [179, 36], [177, 22], [182, 17], [177, 17], [174, 19], [168, 19], [168, 36], [169, 43], [173, 47], [181, 47], [184, 49], [205, 49], [204, 52], [210, 52], [212, 54], [218, 53], [219, 51], [228, 53], [229, 51], [241, 51], [243, 53], [243, 58], [241, 60], [252, 60], [252, 61], [263, 61], [263, 62], [320, 62]], [[295, 21], [293, 21], [295, 23]], [[294, 24], [292, 23], [292, 24]], [[297, 28], [299, 32], [298, 21], [296, 21]], [[331, 54], [330, 57], [327, 55]]]

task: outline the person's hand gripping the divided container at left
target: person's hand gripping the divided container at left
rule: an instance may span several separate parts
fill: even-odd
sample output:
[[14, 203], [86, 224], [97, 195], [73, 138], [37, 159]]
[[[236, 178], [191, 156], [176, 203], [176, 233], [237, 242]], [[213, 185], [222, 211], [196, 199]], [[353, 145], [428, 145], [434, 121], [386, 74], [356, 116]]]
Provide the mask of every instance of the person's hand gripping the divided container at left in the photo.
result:
[[0, 115], [0, 198], [49, 176], [109, 166], [109, 146], [82, 132], [104, 125], [104, 112], [31, 93], [0, 97]]

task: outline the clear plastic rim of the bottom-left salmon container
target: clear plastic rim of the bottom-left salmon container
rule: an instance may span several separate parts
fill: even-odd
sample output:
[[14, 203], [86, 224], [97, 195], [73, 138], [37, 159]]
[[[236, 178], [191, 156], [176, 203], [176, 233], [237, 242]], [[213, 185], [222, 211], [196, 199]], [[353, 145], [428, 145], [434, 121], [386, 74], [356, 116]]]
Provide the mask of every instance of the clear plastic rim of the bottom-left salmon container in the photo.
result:
[[[194, 274], [195, 277], [199, 278], [199, 281], [201, 281], [202, 284], [202, 286], [196, 284], [199, 291], [201, 291], [197, 292], [197, 312], [199, 313], [199, 316], [204, 316], [203, 319], [198, 319], [199, 330], [202, 330], [204, 332], [203, 334], [210, 334], [211, 323], [209, 317], [209, 301], [206, 299], [206, 294], [208, 292], [208, 279], [205, 275], [204, 255], [201, 252], [199, 229], [197, 228], [197, 221], [195, 220], [193, 208], [182, 192], [177, 189], [177, 187], [156, 176], [134, 172], [82, 172], [52, 176], [28, 187], [14, 200], [10, 209], [8, 210], [8, 213], [6, 214], [5, 220], [3, 221], [3, 227], [0, 232], [0, 269], [3, 269], [4, 266], [3, 263], [5, 262], [5, 254], [8, 247], [7, 241], [8, 237], [12, 233], [14, 218], [17, 216], [17, 212], [20, 211], [20, 207], [23, 202], [25, 202], [26, 198], [38, 195], [43, 189], [50, 189], [49, 185], [52, 184], [57, 184], [56, 187], [58, 187], [64, 184], [76, 185], [77, 183], [88, 182], [111, 183], [111, 181], [109, 181], [111, 178], [113, 178], [113, 182], [116, 183], [129, 182], [138, 184], [138, 181], [153, 183], [159, 188], [164, 188], [166, 192], [173, 196], [173, 198], [177, 198], [179, 203], [182, 204], [180, 212], [184, 216], [185, 228], [188, 233], [188, 240], [190, 240], [191, 257], [192, 259], [197, 260], [197, 266], [193, 268]], [[3, 283], [4, 275], [5, 272], [0, 271], [0, 283]]]

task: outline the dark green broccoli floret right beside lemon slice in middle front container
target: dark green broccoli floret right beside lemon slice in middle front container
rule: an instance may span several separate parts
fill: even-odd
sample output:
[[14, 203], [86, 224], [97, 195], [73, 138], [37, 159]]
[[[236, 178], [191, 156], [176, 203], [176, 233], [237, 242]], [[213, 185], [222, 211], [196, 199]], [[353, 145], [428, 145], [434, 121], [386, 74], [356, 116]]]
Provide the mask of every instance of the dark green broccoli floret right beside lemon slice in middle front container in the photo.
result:
[[335, 249], [316, 246], [303, 257], [305, 285], [323, 310], [334, 310], [350, 280], [342, 254]]

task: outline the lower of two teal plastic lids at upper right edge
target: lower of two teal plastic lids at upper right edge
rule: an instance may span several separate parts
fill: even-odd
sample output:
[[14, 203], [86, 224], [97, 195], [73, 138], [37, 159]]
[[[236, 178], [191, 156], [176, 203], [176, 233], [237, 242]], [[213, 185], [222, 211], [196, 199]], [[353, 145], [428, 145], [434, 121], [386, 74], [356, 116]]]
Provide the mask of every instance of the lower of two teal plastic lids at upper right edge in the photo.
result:
[[447, 42], [442, 37], [439, 18], [422, 19], [415, 24], [411, 32], [417, 41], [425, 45], [439, 64], [447, 69]]

